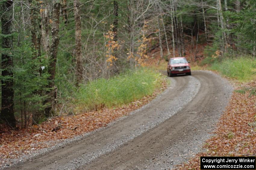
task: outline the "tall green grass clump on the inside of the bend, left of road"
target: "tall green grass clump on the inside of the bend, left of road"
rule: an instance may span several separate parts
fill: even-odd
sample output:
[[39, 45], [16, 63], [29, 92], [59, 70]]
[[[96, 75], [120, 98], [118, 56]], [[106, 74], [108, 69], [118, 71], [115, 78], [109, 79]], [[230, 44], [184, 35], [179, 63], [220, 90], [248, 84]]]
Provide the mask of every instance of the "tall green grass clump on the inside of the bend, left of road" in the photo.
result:
[[126, 71], [110, 79], [98, 79], [82, 85], [76, 102], [83, 110], [121, 106], [151, 95], [162, 81], [164, 76], [150, 69]]

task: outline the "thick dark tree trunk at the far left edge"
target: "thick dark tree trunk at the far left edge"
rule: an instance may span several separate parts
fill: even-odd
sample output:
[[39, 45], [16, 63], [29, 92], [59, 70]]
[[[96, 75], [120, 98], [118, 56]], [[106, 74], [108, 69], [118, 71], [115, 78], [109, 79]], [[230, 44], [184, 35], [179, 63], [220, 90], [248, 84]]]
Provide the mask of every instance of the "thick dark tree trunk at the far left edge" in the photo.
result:
[[13, 28], [12, 28], [12, 10], [10, 8], [13, 1], [2, 2], [2, 110], [0, 118], [12, 128], [16, 127], [14, 117], [14, 90], [13, 90]]

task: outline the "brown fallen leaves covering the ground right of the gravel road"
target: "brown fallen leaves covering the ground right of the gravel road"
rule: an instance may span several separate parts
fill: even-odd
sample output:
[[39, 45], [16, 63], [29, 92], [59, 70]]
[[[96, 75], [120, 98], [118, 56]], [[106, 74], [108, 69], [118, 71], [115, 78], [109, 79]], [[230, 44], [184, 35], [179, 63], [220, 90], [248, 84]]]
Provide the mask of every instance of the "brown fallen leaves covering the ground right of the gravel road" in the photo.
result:
[[[251, 82], [246, 87], [256, 87]], [[238, 88], [242, 89], [243, 87]], [[206, 149], [176, 169], [200, 169], [200, 156], [256, 155], [256, 96], [233, 92], [226, 111], [221, 116], [214, 136], [204, 144]]]

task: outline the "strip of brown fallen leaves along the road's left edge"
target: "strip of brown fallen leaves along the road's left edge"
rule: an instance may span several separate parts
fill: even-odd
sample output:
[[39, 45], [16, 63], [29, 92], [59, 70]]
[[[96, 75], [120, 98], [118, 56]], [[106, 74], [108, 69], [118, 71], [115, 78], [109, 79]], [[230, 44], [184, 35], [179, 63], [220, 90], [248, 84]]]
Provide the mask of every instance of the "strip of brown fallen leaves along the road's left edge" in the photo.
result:
[[22, 154], [31, 154], [35, 150], [53, 146], [61, 140], [105, 127], [108, 123], [147, 104], [166, 88], [167, 82], [164, 81], [151, 96], [145, 96], [131, 104], [74, 116], [60, 116], [30, 128], [11, 130], [0, 125], [0, 167], [8, 163], [7, 159], [18, 158]]

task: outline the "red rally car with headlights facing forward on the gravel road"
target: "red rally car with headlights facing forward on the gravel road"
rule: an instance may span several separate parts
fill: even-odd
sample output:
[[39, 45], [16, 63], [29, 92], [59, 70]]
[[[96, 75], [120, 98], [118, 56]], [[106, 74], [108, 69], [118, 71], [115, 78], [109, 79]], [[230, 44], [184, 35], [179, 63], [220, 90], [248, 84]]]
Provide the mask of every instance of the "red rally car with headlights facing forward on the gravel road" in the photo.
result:
[[170, 61], [167, 65], [167, 74], [168, 76], [173, 76], [176, 74], [187, 74], [191, 75], [191, 70], [189, 62], [185, 57], [174, 57], [170, 58]]

